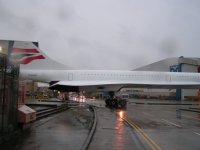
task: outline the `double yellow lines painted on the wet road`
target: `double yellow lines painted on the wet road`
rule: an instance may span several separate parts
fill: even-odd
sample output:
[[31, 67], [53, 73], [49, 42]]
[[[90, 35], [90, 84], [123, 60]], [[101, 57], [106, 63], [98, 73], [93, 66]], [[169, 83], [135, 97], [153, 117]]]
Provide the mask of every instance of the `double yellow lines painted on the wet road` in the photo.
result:
[[122, 119], [137, 131], [137, 133], [145, 140], [145, 142], [151, 147], [152, 150], [161, 150], [161, 148], [138, 125], [126, 118]]

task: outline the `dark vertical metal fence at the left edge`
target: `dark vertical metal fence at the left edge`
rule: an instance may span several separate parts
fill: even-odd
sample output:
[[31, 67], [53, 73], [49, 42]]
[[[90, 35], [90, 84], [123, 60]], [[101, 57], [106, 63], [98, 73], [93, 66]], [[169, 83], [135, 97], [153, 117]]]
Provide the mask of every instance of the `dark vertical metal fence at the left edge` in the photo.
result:
[[0, 54], [0, 137], [17, 129], [19, 66]]

